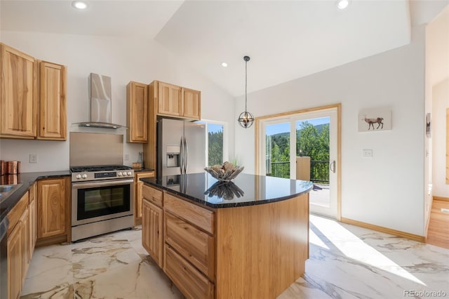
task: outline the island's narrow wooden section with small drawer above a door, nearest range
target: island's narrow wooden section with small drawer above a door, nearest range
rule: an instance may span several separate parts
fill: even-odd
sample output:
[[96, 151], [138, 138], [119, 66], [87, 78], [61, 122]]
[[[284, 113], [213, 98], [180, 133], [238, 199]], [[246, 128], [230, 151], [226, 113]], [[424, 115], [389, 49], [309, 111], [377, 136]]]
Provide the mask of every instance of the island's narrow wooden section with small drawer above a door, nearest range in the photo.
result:
[[163, 193], [142, 187], [142, 246], [159, 267], [163, 265]]

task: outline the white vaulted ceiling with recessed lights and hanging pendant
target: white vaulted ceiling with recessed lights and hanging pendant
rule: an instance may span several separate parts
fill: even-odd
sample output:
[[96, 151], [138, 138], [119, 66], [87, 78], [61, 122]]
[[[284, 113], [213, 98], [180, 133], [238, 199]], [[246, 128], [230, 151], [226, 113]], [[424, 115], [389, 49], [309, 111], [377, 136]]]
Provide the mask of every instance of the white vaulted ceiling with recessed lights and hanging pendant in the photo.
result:
[[[154, 39], [230, 95], [344, 65], [410, 43], [448, 0], [0, 1], [0, 29]], [[227, 67], [221, 63], [227, 62]]]

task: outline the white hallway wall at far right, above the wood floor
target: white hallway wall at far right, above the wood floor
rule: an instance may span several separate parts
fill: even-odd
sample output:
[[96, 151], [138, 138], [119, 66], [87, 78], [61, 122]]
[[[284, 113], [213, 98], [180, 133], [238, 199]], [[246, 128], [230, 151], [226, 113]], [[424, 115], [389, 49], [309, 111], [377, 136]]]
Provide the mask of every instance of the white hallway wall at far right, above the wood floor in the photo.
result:
[[432, 195], [449, 197], [445, 183], [446, 126], [449, 108], [449, 6], [426, 28], [426, 98], [431, 102], [431, 183]]

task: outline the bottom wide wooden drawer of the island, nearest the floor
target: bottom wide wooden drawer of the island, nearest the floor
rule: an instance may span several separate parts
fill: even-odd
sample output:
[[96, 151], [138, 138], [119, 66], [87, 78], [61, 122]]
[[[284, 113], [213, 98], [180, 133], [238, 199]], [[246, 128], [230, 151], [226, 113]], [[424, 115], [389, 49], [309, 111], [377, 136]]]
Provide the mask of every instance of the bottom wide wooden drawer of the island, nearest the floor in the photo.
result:
[[170, 246], [164, 251], [164, 272], [187, 298], [213, 298], [214, 285]]

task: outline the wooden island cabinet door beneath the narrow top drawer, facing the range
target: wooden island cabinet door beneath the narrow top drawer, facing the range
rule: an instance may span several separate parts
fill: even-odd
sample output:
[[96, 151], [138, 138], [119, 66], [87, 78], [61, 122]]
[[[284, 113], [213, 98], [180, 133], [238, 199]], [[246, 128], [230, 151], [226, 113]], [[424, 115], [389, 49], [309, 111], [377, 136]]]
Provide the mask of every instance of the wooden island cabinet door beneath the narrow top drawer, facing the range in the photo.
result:
[[162, 209], [144, 199], [142, 201], [142, 246], [159, 267], [163, 265], [162, 220]]

